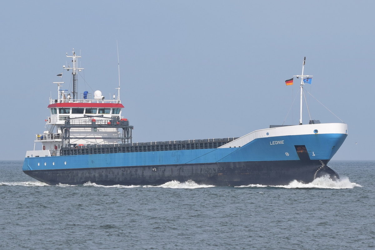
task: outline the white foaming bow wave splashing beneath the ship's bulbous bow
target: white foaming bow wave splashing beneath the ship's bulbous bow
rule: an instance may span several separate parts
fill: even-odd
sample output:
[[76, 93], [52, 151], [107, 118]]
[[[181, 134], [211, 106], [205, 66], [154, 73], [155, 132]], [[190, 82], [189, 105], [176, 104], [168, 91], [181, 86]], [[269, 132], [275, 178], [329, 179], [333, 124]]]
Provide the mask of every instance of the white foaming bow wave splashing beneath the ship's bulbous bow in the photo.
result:
[[281, 187], [285, 189], [353, 189], [354, 187], [362, 187], [361, 185], [350, 182], [348, 177], [340, 180], [332, 180], [328, 175], [316, 178], [311, 183], [302, 183], [299, 181], [291, 181], [288, 185], [264, 186], [264, 185], [248, 185], [239, 187]]

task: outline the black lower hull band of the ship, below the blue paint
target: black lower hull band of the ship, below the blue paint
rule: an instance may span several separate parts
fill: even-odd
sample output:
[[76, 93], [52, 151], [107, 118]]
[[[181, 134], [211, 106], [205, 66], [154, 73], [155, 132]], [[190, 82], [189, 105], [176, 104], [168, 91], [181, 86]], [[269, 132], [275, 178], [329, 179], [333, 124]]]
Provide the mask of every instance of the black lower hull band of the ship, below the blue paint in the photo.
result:
[[193, 180], [198, 184], [243, 186], [287, 185], [293, 180], [310, 183], [315, 178], [339, 175], [326, 166], [327, 160], [218, 162], [184, 165], [30, 170], [25, 174], [50, 185], [91, 183], [111, 185], [160, 185], [168, 181]]

